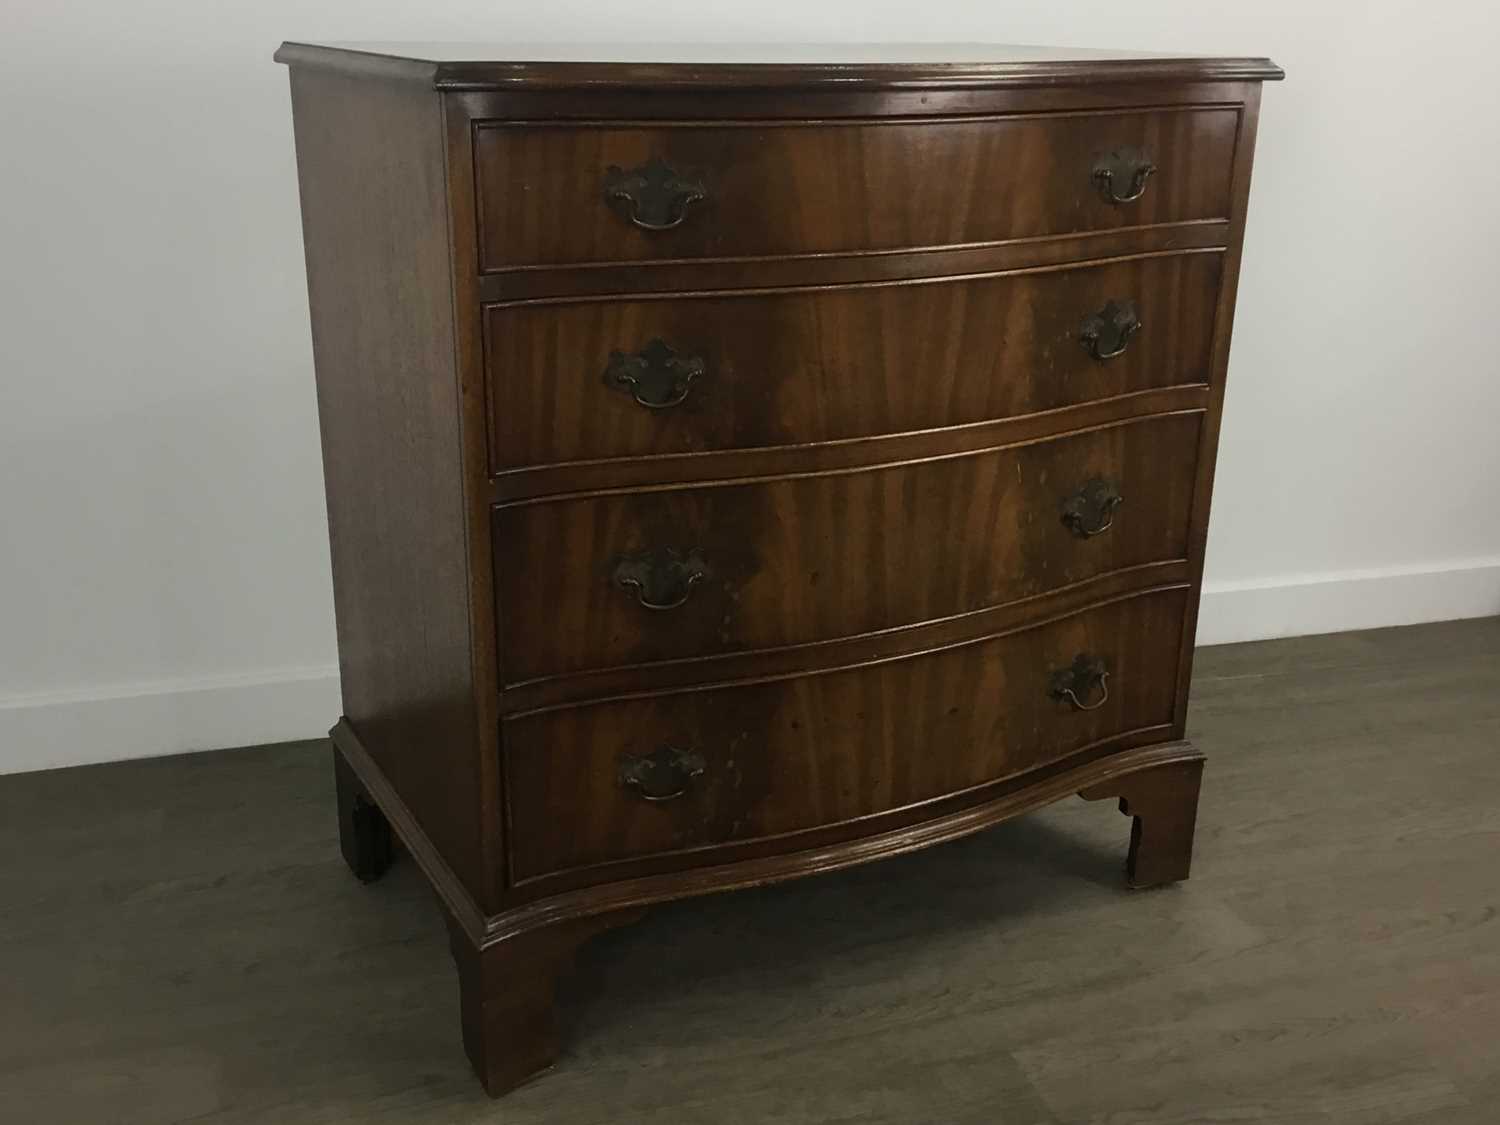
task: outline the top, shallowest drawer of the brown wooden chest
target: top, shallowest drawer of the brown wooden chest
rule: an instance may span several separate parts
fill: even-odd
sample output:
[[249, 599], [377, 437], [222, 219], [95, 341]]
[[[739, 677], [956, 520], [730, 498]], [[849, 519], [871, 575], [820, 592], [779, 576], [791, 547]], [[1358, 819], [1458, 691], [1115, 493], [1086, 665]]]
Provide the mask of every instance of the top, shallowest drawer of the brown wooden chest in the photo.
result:
[[1238, 123], [1233, 108], [1167, 108], [483, 124], [480, 266], [868, 254], [1224, 219]]

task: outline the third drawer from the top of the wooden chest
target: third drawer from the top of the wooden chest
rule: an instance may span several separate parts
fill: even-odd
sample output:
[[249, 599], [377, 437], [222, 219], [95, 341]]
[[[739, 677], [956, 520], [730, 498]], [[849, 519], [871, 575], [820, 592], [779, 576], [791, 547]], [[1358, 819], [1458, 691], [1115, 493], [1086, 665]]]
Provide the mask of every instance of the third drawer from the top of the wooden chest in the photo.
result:
[[1186, 558], [1200, 424], [501, 506], [506, 682], [855, 636]]

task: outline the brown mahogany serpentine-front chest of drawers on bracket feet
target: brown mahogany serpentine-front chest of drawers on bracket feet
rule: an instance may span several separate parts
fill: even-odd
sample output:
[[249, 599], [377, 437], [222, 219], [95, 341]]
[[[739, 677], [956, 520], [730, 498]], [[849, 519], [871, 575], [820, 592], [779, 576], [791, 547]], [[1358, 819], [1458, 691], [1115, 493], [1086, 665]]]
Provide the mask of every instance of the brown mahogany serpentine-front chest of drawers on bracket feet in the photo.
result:
[[[556, 48], [552, 48], [556, 50]], [[286, 44], [344, 854], [486, 1089], [656, 902], [1070, 794], [1188, 873], [1254, 58]], [[542, 58], [542, 62], [538, 62]]]

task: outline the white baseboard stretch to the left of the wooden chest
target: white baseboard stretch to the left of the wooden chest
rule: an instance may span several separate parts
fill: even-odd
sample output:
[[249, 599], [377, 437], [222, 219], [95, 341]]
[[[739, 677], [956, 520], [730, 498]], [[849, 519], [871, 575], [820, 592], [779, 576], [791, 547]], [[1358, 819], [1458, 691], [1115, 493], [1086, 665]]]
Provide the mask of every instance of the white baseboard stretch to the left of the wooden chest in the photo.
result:
[[322, 738], [339, 669], [120, 684], [0, 699], [0, 774]]

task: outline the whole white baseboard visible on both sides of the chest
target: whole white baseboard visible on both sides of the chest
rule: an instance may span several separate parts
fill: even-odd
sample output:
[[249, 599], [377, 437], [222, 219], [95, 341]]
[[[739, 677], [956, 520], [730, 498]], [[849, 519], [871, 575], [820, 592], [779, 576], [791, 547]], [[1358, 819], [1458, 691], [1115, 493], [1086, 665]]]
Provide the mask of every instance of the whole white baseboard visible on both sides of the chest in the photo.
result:
[[[1500, 614], [1500, 560], [1209, 582], [1200, 645]], [[0, 699], [0, 774], [321, 738], [338, 668], [126, 684]]]

